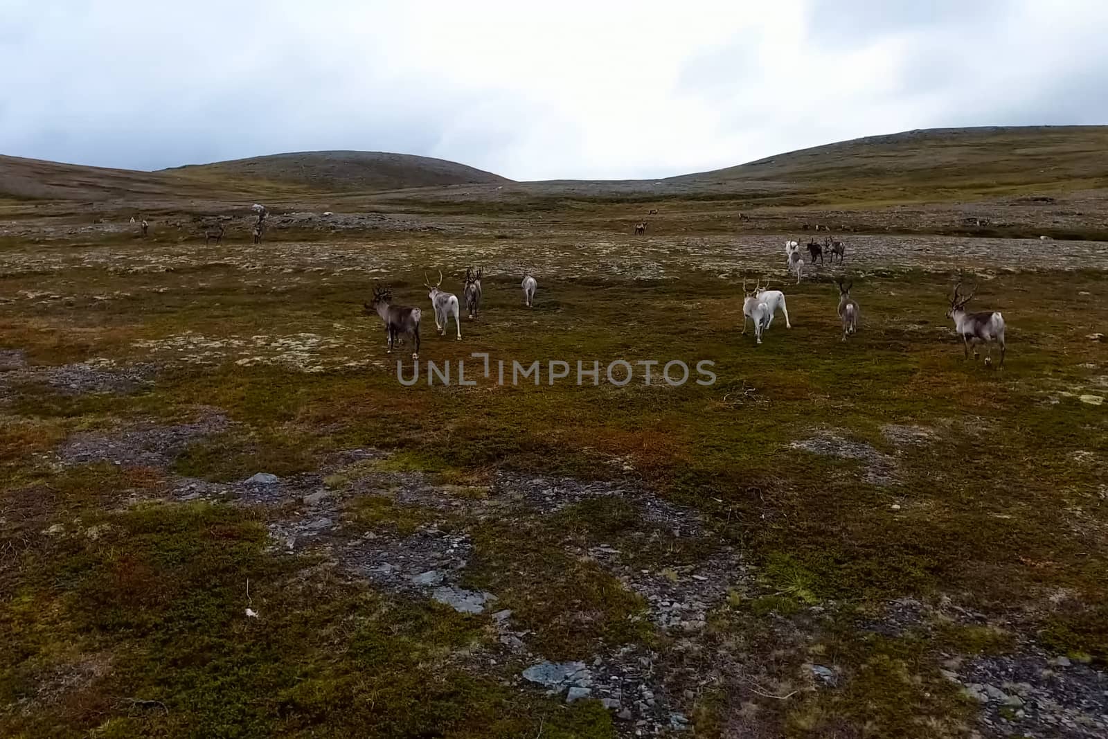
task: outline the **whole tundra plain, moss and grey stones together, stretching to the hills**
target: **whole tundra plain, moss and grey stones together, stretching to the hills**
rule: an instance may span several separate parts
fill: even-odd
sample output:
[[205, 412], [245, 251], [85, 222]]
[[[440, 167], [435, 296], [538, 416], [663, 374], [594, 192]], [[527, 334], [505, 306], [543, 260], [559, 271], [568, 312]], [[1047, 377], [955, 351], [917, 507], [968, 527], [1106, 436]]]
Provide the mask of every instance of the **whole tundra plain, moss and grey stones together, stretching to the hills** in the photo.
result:
[[[1108, 735], [1108, 182], [1069, 150], [1068, 178], [1020, 177], [995, 154], [1025, 133], [892, 191], [856, 146], [791, 189], [11, 191], [0, 733]], [[1086, 134], [1051, 135], [1102, 153]], [[782, 244], [817, 223], [845, 261], [796, 285]], [[422, 280], [461, 297], [468, 266], [458, 341]], [[963, 359], [960, 274], [1004, 314], [1003, 370]], [[757, 347], [743, 277], [792, 321]], [[402, 387], [375, 283], [423, 309], [421, 365], [602, 381]], [[616, 387], [617, 359], [717, 380]]]

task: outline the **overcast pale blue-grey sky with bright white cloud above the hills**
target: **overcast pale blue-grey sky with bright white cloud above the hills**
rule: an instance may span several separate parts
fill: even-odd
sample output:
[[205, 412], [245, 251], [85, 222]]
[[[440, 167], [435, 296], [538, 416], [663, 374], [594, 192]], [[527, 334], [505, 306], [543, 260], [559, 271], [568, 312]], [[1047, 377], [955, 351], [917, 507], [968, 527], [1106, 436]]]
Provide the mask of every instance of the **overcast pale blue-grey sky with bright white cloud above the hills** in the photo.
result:
[[161, 6], [0, 0], [0, 154], [151, 170], [340, 148], [623, 178], [1108, 123], [1104, 0]]

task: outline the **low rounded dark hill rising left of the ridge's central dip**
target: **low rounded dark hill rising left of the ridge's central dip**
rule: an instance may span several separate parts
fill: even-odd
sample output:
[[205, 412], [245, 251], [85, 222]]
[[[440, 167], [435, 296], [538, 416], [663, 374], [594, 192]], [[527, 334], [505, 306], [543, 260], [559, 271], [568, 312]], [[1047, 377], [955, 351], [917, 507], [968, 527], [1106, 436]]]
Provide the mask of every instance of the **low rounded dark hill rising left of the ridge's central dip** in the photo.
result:
[[163, 172], [202, 175], [205, 178], [289, 183], [325, 192], [511, 182], [456, 162], [387, 152], [297, 152], [188, 165]]

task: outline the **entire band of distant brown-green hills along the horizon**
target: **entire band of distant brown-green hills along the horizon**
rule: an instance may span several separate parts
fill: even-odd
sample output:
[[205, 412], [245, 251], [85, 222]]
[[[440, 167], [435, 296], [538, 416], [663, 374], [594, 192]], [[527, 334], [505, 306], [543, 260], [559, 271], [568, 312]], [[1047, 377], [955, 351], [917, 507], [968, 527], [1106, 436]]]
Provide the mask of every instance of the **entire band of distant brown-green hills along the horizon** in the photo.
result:
[[[59, 201], [253, 199], [474, 185], [471, 193], [572, 197], [813, 193], [873, 202], [957, 198], [1018, 188], [1108, 188], [1108, 126], [981, 126], [865, 136], [738, 166], [643, 181], [513, 183], [491, 172], [413, 154], [297, 152], [157, 172], [0, 156], [0, 197]], [[428, 191], [433, 193], [435, 191]], [[453, 191], [441, 191], [450, 193]], [[413, 192], [412, 196], [423, 197]]]

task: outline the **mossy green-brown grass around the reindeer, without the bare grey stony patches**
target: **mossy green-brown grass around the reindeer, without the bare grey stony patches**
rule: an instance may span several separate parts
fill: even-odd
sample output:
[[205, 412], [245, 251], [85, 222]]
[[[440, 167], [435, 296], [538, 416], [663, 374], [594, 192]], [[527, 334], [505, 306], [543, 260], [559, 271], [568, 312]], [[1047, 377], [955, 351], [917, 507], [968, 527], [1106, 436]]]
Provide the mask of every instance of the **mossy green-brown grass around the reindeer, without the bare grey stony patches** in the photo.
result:
[[[279, 259], [249, 267], [235, 246], [179, 247], [171, 271], [130, 269], [131, 243], [98, 246], [111, 258], [92, 261], [79, 245], [4, 247], [0, 348], [25, 352], [30, 368], [0, 374], [0, 732], [632, 732], [596, 701], [565, 706], [519, 685], [511, 660], [476, 666], [496, 644], [489, 615], [367, 584], [325, 553], [275, 552], [267, 526], [287, 511], [164, 500], [176, 478], [311, 473], [352, 448], [391, 453], [372, 474], [423, 475], [463, 503], [443, 513], [438, 501], [413, 506], [373, 490], [349, 499], [345, 525], [400, 538], [429, 523], [464, 533], [464, 584], [495, 593], [538, 657], [591, 660], [632, 645], [674, 676], [711, 676], [708, 687], [666, 682], [698, 736], [964, 736], [977, 709], [940, 674], [952, 655], [1032, 645], [1108, 660], [1108, 420], [1081, 399], [1108, 394], [1108, 349], [1087, 338], [1108, 321], [1102, 271], [965, 264], [984, 273], [975, 302], [1008, 322], [1007, 366], [993, 371], [964, 361], [951, 336], [950, 274], [910, 264], [855, 277], [861, 329], [847, 342], [825, 276], [786, 285], [793, 327], [779, 316], [759, 347], [739, 335], [735, 284], [718, 265], [690, 268], [698, 255], [677, 239], [629, 257], [656, 267], [646, 279], [611, 269], [618, 250], [557, 246], [564, 271], [541, 276], [533, 310], [510, 271], [529, 255], [510, 246], [459, 342], [433, 331], [424, 265], [502, 243], [484, 233], [339, 244], [365, 260], [351, 271], [331, 246], [275, 247]], [[762, 254], [756, 264], [770, 264]], [[747, 269], [741, 246], [728, 258], [732, 277]], [[43, 266], [25, 269], [34, 260]], [[387, 271], [375, 274], [375, 260]], [[361, 315], [375, 278], [425, 308], [421, 360], [465, 360], [470, 377], [480, 366], [470, 353], [483, 351], [493, 362], [602, 368], [709, 360], [718, 379], [577, 387], [546, 383], [544, 367], [540, 386], [478, 377], [403, 388], [394, 361], [409, 348], [387, 356], [378, 319]], [[37, 370], [92, 359], [151, 362], [155, 379], [134, 392], [74, 392]], [[212, 409], [232, 425], [166, 464], [55, 458], [73, 434]], [[853, 451], [809, 451], [823, 449], [813, 439]], [[675, 536], [615, 500], [472, 513], [504, 494], [492, 485], [503, 473], [648, 490], [702, 526]], [[330, 484], [349, 487], [360, 473], [343, 474]], [[693, 638], [652, 622], [624, 569], [583, 556], [599, 545], [620, 551], [626, 572], [675, 582], [730, 547], [749, 577], [707, 604]], [[904, 598], [947, 598], [983, 622], [860, 626]], [[248, 604], [265, 618], [243, 617]], [[833, 687], [801, 679], [817, 660], [834, 666]]]

